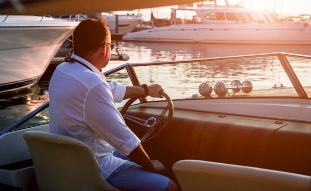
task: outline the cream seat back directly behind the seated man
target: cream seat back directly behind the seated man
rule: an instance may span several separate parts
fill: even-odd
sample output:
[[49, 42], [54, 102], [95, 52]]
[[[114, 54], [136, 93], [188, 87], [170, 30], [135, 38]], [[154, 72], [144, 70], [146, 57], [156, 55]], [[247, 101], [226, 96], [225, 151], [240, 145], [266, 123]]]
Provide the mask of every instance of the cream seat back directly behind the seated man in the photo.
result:
[[105, 181], [88, 145], [41, 131], [23, 134], [40, 191], [119, 191]]

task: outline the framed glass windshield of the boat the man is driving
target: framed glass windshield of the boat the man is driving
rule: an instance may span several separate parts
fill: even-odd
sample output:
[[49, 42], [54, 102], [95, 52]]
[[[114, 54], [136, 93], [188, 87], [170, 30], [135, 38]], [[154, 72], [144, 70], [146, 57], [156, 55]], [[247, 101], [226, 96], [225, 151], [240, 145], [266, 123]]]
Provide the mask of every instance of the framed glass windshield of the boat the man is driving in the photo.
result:
[[[291, 64], [289, 68], [287, 68], [287, 61]], [[206, 95], [200, 94], [199, 87], [202, 83], [208, 83], [207, 86], [211, 87], [210, 95], [213, 98], [299, 97], [302, 94], [307, 94], [310, 98], [310, 71], [307, 70], [309, 64], [310, 58], [271, 55], [169, 64], [133, 64], [131, 68], [133, 67], [140, 84], [160, 84], [172, 99], [207, 98]], [[132, 86], [134, 83], [127, 71], [124, 68], [109, 74], [107, 81], [117, 81]], [[300, 88], [295, 87], [299, 85], [296, 77], [304, 86], [305, 93], [297, 91]], [[227, 89], [225, 95], [219, 94], [219, 91], [215, 92], [216, 85]], [[249, 91], [250, 88], [251, 91]], [[160, 98], [150, 96], [146, 98], [148, 101], [160, 100]], [[122, 106], [123, 103], [118, 105]]]

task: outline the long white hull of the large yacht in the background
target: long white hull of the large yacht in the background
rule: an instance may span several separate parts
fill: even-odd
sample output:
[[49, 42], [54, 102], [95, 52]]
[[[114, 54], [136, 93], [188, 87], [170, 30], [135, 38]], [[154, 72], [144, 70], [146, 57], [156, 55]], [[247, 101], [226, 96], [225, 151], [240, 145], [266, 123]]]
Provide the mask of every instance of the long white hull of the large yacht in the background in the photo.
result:
[[129, 33], [125, 41], [311, 44], [310, 24], [176, 24]]

